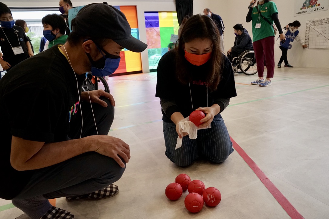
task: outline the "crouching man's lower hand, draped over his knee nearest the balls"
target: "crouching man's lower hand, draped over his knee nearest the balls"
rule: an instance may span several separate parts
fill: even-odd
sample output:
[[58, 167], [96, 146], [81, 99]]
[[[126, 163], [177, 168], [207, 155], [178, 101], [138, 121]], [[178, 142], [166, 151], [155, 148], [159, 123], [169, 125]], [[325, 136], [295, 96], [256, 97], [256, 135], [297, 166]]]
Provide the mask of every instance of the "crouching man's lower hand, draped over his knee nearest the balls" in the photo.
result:
[[113, 158], [122, 168], [128, 163], [130, 159], [129, 145], [123, 142], [121, 139], [114, 138], [108, 135], [94, 136], [95, 152]]

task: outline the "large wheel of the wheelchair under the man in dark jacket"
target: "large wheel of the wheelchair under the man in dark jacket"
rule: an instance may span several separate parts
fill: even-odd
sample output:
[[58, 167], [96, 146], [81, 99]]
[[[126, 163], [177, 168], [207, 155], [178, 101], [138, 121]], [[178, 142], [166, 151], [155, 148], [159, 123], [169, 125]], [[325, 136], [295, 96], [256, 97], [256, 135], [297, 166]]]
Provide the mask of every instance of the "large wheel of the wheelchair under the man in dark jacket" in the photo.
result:
[[240, 55], [240, 70], [245, 75], [255, 75], [257, 71], [255, 51], [246, 50]]

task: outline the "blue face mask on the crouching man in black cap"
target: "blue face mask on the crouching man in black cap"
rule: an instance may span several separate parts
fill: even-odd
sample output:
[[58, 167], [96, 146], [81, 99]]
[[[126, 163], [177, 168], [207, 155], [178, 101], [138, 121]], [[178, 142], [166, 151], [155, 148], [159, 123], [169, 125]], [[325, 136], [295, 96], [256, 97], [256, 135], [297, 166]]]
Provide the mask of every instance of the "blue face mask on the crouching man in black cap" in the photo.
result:
[[[99, 51], [101, 52], [100, 49]], [[106, 52], [105, 55], [106, 56], [103, 55], [103, 58], [97, 61], [93, 61], [89, 53], [87, 53], [87, 56], [91, 63], [91, 75], [96, 77], [105, 77], [108, 75], [112, 75], [115, 72], [115, 70], [119, 67], [119, 63], [121, 59], [120, 56], [111, 55]]]

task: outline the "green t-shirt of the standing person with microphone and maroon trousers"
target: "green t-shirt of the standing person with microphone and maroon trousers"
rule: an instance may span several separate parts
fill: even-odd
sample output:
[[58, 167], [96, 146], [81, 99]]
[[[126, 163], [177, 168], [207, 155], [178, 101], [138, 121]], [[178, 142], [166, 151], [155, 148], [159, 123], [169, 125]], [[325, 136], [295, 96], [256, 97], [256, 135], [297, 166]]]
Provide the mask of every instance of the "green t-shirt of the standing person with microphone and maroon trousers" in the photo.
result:
[[[267, 18], [267, 20], [273, 23], [272, 14], [278, 13], [276, 4], [274, 2], [266, 2], [263, 5], [259, 5], [258, 9], [261, 14]], [[252, 10], [252, 41], [255, 42], [260, 39], [264, 39], [268, 36], [275, 36], [273, 27], [269, 25], [259, 14], [256, 7]], [[256, 28], [256, 24], [261, 23], [261, 28]]]

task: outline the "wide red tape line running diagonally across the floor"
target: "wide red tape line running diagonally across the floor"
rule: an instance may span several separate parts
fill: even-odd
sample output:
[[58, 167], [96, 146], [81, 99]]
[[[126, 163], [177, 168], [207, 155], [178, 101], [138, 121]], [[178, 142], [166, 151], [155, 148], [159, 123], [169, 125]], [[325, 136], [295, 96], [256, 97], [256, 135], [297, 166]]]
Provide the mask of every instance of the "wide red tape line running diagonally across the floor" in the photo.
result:
[[[230, 137], [231, 138], [231, 137]], [[232, 138], [233, 148], [240, 154], [242, 159], [249, 165], [249, 167], [258, 176], [264, 186], [273, 195], [276, 201], [281, 205], [281, 207], [287, 212], [287, 214], [292, 219], [302, 219], [304, 218], [297, 210], [294, 208], [288, 199], [279, 191], [277, 187], [268, 179], [265, 173], [257, 166], [257, 164], [248, 156], [248, 154], [235, 142]]]

